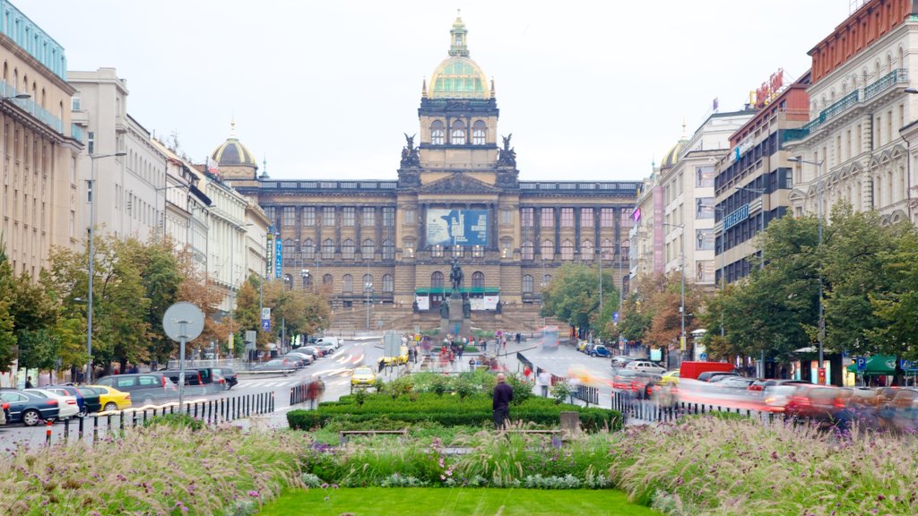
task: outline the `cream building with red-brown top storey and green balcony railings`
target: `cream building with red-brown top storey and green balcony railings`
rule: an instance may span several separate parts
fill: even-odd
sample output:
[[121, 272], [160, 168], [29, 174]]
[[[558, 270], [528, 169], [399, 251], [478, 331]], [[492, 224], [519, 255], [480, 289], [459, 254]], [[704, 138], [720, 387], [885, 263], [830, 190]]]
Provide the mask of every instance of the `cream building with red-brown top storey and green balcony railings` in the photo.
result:
[[[918, 60], [918, 4], [870, 0], [820, 41], [812, 56], [810, 121], [785, 143], [800, 159], [789, 203], [823, 217], [845, 200], [884, 221], [910, 218], [907, 144], [918, 97], [905, 90]], [[912, 223], [915, 222], [912, 213]]]

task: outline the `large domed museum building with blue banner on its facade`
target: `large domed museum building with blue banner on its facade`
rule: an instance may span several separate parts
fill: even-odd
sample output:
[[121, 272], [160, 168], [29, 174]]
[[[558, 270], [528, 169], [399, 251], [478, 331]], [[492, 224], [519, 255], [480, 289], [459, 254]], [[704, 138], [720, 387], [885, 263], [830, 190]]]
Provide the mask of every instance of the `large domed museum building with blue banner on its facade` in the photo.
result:
[[336, 327], [363, 328], [364, 304], [373, 329], [439, 320], [453, 258], [472, 319], [508, 330], [541, 326], [542, 288], [561, 264], [601, 259], [616, 287], [628, 276], [640, 182], [521, 181], [510, 135], [498, 140], [494, 83], [466, 36], [457, 17], [447, 58], [422, 85], [420, 128], [406, 134], [396, 178], [273, 180], [220, 167], [274, 225], [272, 279], [328, 288]]

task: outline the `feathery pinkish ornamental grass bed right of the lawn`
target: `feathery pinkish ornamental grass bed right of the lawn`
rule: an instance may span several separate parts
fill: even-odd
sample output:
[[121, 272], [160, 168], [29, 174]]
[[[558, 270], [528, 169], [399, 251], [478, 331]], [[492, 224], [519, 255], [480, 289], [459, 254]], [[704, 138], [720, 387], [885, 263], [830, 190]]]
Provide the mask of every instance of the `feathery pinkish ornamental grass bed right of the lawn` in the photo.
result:
[[620, 435], [613, 483], [667, 514], [918, 514], [914, 436], [708, 417]]

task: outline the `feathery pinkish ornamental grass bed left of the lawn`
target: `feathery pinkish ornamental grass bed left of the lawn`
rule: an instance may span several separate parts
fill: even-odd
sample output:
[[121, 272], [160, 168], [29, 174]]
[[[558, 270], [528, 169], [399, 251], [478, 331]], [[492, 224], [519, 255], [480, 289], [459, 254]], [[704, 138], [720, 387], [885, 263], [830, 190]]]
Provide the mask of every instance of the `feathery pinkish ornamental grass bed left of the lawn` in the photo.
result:
[[152, 425], [90, 445], [21, 446], [0, 456], [0, 514], [254, 513], [298, 488], [298, 432]]

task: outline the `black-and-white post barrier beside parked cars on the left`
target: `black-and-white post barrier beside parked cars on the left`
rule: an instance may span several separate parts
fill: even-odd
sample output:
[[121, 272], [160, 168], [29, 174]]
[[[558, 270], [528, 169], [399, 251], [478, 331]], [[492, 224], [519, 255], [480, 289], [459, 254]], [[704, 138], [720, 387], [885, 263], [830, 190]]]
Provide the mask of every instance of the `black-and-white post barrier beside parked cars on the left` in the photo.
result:
[[[232, 398], [217, 399], [198, 399], [185, 402], [185, 414], [203, 421], [207, 425], [217, 426], [218, 424], [245, 419], [252, 415], [267, 414], [274, 412], [274, 393], [263, 392], [258, 394], [247, 394], [235, 396]], [[92, 419], [93, 442], [99, 440], [100, 432], [114, 436], [123, 434], [126, 430], [143, 426], [147, 421], [156, 416], [166, 414], [181, 413], [177, 402], [170, 402], [163, 405], [147, 405], [137, 409], [109, 410], [99, 412], [92, 416], [77, 418], [77, 439], [83, 440], [84, 435], [89, 429], [86, 428], [87, 420]], [[118, 421], [113, 421], [118, 418]], [[100, 425], [99, 421], [103, 424]], [[50, 421], [47, 430], [47, 443], [51, 443]], [[63, 421], [63, 441], [66, 443], [70, 437], [71, 420]], [[100, 429], [100, 426], [102, 427]], [[117, 428], [116, 428], [117, 427]]]

